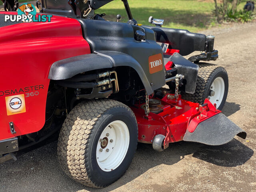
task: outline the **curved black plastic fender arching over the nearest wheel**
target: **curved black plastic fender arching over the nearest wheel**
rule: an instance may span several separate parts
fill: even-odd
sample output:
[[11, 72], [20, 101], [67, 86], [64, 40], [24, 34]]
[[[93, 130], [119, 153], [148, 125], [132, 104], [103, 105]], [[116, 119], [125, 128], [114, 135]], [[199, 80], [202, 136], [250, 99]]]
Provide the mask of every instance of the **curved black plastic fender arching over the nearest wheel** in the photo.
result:
[[117, 66], [130, 66], [140, 76], [140, 79], [148, 94], [153, 90], [141, 65], [132, 56], [116, 51], [98, 51], [56, 61], [52, 64], [48, 79], [64, 80], [81, 72], [96, 69], [112, 68]]

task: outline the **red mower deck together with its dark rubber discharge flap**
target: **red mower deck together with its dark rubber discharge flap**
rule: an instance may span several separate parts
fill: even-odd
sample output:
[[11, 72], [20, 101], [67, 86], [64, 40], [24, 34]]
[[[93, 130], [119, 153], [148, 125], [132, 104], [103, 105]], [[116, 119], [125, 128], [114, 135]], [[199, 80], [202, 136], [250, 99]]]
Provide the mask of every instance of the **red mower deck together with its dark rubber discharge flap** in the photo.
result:
[[[152, 143], [154, 137], [161, 134], [165, 136], [163, 146], [166, 149], [169, 143], [182, 140], [221, 145], [232, 140], [236, 134], [242, 138], [246, 137], [246, 133], [226, 116], [220, 114], [221, 111], [217, 110], [208, 99], [203, 105], [183, 100], [181, 96], [176, 101], [174, 94], [166, 94], [162, 99], [152, 98], [152, 100], [159, 101], [158, 108], [162, 108], [162, 112], [156, 113], [154, 108], [157, 109], [157, 106], [152, 106], [150, 113], [146, 116], [144, 104], [131, 107], [138, 122], [139, 142]], [[213, 121], [215, 124], [210, 123], [213, 118], [220, 120], [220, 116], [221, 121], [218, 125], [216, 121]], [[200, 126], [204, 121], [206, 123]], [[197, 128], [200, 129], [201, 135], [194, 137], [194, 132], [198, 133]], [[222, 130], [229, 130], [229, 132]], [[221, 139], [221, 135], [225, 139]]]

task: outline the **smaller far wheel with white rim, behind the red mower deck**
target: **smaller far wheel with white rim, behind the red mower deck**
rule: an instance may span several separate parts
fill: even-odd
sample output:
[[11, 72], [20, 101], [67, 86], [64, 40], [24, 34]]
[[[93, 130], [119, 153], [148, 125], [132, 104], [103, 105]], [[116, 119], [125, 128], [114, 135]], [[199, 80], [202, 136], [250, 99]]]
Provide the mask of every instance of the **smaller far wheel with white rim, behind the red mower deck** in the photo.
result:
[[204, 100], [209, 98], [212, 104], [216, 103], [217, 108], [222, 110], [228, 95], [226, 70], [214, 64], [199, 63], [198, 65], [196, 92], [194, 94], [185, 93], [182, 98], [199, 104], [204, 104]]

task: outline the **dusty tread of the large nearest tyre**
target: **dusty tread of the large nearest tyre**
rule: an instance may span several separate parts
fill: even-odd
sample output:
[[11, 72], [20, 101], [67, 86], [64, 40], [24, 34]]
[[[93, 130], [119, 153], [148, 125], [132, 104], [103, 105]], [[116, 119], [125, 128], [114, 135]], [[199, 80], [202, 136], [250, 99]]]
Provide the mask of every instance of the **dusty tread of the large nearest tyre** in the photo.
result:
[[[81, 102], [67, 115], [60, 131], [57, 152], [60, 166], [70, 178], [86, 186], [105, 187], [95, 183], [90, 170], [87, 169], [90, 161], [88, 147], [90, 140], [92, 140], [91, 134], [94, 131], [94, 124], [106, 110], [116, 107], [130, 110], [121, 102], [102, 99]], [[133, 112], [132, 115], [136, 120]]]

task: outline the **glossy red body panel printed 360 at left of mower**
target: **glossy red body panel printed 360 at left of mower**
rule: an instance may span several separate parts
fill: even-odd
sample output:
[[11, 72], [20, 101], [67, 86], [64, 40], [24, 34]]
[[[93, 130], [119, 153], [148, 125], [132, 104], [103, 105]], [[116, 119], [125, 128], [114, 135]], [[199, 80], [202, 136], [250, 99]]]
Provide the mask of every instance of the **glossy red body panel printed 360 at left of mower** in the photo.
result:
[[[2, 27], [0, 47], [2, 140], [36, 132], [44, 126], [50, 66], [64, 58], [89, 54], [90, 46], [84, 40], [81, 25], [76, 19], [53, 16], [51, 22]], [[38, 95], [34, 94], [35, 91]], [[19, 94], [24, 94], [26, 112], [7, 115], [6, 97]], [[9, 122], [14, 123], [16, 134], [10, 133]]]

